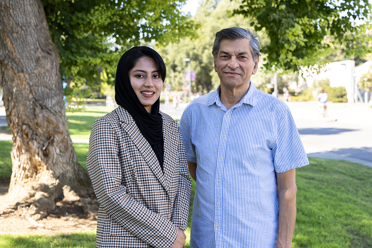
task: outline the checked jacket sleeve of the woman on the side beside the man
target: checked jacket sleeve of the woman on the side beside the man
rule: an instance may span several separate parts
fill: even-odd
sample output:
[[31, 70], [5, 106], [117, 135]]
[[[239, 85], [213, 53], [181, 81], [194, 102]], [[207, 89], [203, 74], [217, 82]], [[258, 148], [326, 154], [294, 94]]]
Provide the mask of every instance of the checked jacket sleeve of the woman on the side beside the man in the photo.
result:
[[187, 170], [187, 161], [185, 154], [185, 145], [183, 144], [181, 131], [178, 129], [178, 158], [179, 158], [179, 185], [177, 195], [173, 203], [171, 221], [174, 226], [183, 231], [186, 230], [187, 220], [189, 217], [190, 195], [191, 195], [191, 179]]

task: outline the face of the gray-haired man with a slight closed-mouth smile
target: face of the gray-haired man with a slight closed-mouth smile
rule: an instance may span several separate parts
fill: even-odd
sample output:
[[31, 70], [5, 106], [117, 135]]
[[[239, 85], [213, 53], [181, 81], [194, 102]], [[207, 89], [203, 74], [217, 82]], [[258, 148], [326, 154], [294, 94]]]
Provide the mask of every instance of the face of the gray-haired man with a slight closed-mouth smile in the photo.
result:
[[258, 61], [253, 61], [248, 39], [223, 39], [217, 58], [214, 58], [214, 70], [221, 86], [240, 87], [248, 84], [252, 74], [256, 74]]

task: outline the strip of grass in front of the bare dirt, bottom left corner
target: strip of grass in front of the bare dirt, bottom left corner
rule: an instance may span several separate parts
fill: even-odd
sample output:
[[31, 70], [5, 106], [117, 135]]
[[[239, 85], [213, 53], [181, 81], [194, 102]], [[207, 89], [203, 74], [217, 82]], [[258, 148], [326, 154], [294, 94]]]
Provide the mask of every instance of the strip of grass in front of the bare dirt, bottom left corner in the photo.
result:
[[1, 248], [93, 248], [96, 247], [96, 232], [72, 233], [70, 235], [18, 235], [0, 236]]

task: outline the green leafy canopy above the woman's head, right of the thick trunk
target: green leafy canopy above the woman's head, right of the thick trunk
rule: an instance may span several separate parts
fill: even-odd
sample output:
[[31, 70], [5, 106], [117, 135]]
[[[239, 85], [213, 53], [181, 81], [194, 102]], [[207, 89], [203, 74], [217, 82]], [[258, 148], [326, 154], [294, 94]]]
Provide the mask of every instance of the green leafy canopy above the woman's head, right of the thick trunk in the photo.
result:
[[96, 81], [102, 71], [115, 75], [120, 55], [131, 46], [177, 41], [193, 32], [189, 16], [179, 10], [185, 1], [42, 1], [61, 74], [78, 85]]

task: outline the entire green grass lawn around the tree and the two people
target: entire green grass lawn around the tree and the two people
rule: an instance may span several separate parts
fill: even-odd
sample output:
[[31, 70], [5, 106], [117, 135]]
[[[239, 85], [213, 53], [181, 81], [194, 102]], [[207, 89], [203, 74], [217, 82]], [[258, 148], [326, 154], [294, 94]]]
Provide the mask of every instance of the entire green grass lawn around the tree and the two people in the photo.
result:
[[[68, 113], [71, 136], [89, 137], [94, 120], [105, 113], [107, 110], [100, 107]], [[74, 144], [78, 162], [85, 168], [88, 146]], [[12, 173], [11, 141], [0, 141], [0, 148], [1, 180]], [[320, 158], [309, 161], [310, 165], [296, 170], [297, 219], [292, 248], [372, 247], [372, 168], [349, 161]], [[195, 181], [192, 200], [194, 194]], [[192, 207], [187, 241], [191, 213]], [[93, 232], [54, 237], [1, 235], [0, 247], [94, 247], [94, 239]], [[189, 243], [185, 247], [190, 247]]]

